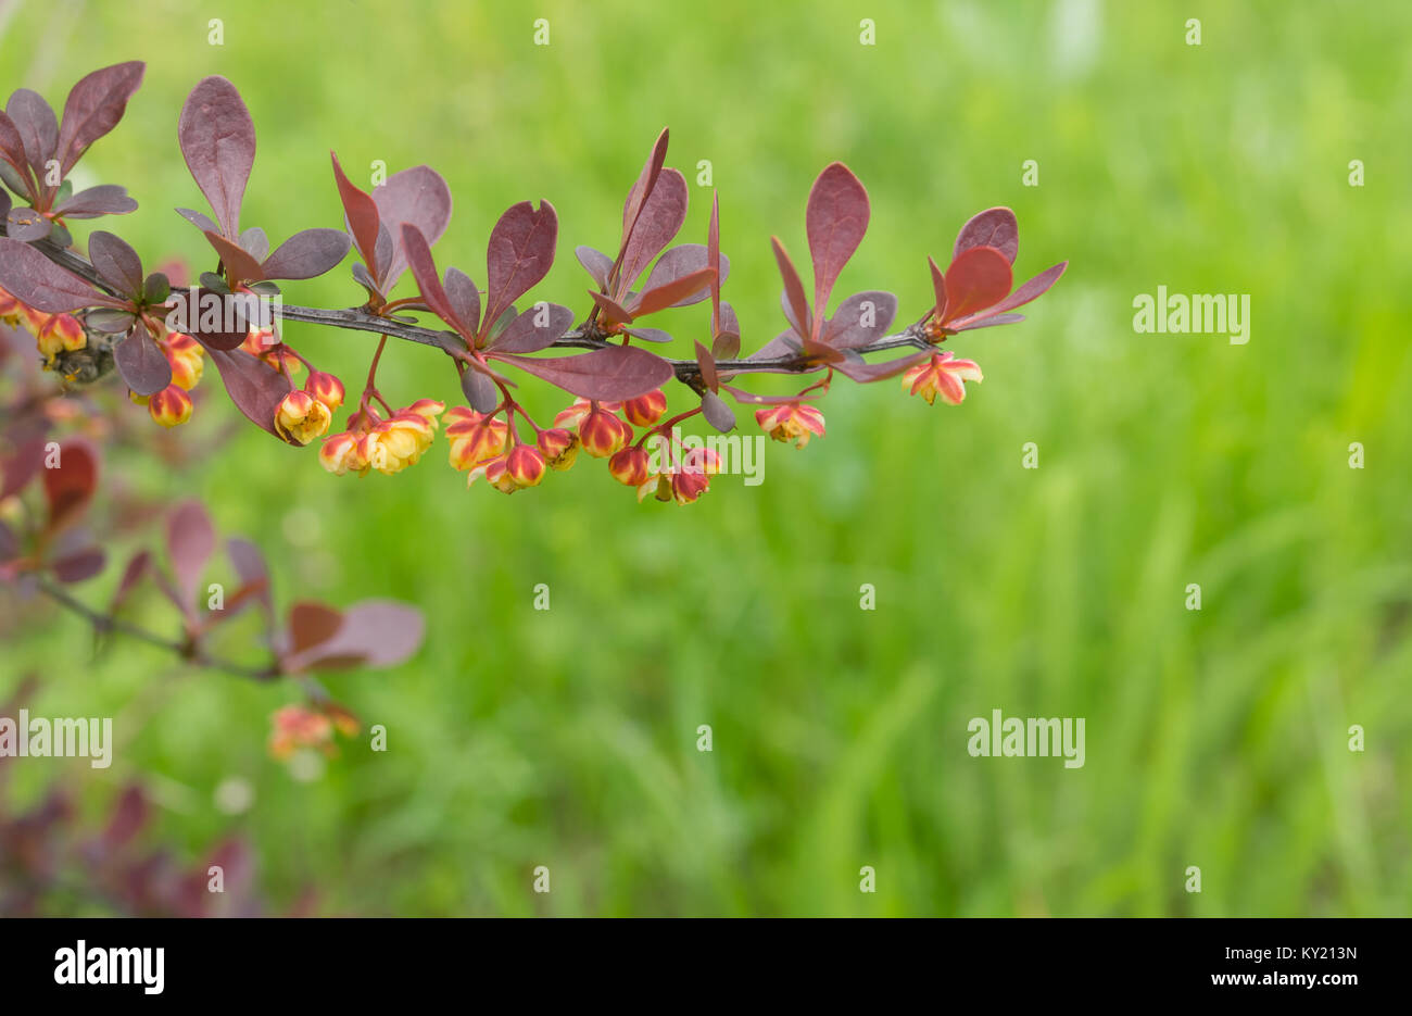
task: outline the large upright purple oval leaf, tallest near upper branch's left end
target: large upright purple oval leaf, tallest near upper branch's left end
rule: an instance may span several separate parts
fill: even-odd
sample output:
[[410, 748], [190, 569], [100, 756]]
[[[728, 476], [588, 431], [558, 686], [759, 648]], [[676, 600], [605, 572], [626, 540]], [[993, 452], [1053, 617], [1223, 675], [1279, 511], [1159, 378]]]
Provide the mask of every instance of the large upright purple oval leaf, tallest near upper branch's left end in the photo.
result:
[[182, 106], [176, 140], [220, 232], [239, 236], [240, 203], [256, 161], [256, 126], [236, 86], [219, 75], [196, 85]]

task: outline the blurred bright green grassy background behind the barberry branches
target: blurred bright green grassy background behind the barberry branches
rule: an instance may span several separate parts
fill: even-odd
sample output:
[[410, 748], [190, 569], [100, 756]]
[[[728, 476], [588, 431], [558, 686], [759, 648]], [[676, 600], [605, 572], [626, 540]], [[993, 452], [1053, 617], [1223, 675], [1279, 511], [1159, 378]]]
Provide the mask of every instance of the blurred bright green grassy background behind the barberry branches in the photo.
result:
[[[0, 21], [6, 93], [59, 106], [89, 69], [148, 61], [83, 171], [128, 185], [140, 211], [103, 225], [150, 263], [209, 260], [171, 211], [203, 206], [175, 124], [206, 73], [257, 124], [244, 223], [336, 225], [330, 148], [354, 178], [428, 163], [456, 202], [442, 266], [483, 281], [498, 213], [549, 198], [539, 294], [580, 311], [572, 247], [613, 244], [669, 124], [669, 164], [712, 163], [747, 348], [781, 328], [768, 237], [806, 249], [836, 158], [874, 209], [840, 294], [891, 288], [918, 317], [926, 254], [945, 264], [991, 205], [1018, 213], [1018, 278], [1072, 261], [1028, 322], [953, 343], [986, 372], [963, 406], [837, 384], [827, 438], [772, 444], [761, 486], [723, 476], [689, 507], [638, 506], [586, 458], [535, 492], [467, 492], [441, 439], [363, 480], [250, 427], [179, 469], [130, 449], [114, 476], [206, 499], [274, 558], [284, 602], [408, 599], [429, 636], [400, 668], [326, 680], [388, 750], [361, 735], [295, 772], [265, 749], [291, 687], [172, 677], [136, 643], [93, 660], [82, 622], [16, 606], [0, 697], [35, 673], [31, 712], [130, 721], [113, 767], [83, 769], [95, 810], [140, 779], [151, 835], [193, 858], [249, 837], [271, 900], [312, 886], [329, 913], [1408, 913], [1412, 7], [31, 0]], [[709, 206], [693, 185], [682, 239], [705, 240]], [[1250, 343], [1135, 333], [1159, 284], [1251, 294]], [[346, 266], [287, 294], [357, 300]], [[683, 342], [705, 329], [674, 314]], [[371, 353], [288, 338], [350, 387]], [[381, 380], [459, 401], [429, 349], [394, 348]], [[193, 435], [234, 417], [213, 372], [202, 387]], [[993, 708], [1086, 718], [1086, 766], [970, 757]], [[21, 769], [21, 796], [54, 772]], [[253, 791], [236, 814], [229, 780]]]

